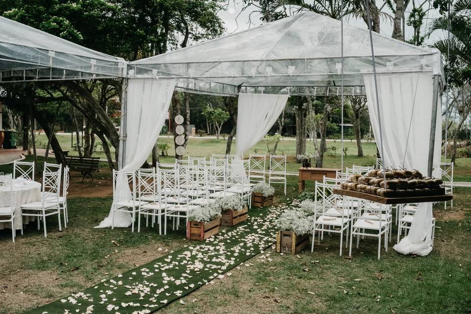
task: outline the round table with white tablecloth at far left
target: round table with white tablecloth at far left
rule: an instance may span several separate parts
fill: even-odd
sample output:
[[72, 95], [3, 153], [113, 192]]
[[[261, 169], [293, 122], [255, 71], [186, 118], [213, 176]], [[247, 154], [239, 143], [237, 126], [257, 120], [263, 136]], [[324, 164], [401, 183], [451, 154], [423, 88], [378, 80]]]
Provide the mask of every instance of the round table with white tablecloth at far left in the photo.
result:
[[[9, 187], [5, 190], [0, 189], [0, 204], [8, 202], [10, 197]], [[15, 209], [15, 229], [21, 229], [21, 206], [27, 203], [41, 201], [41, 183], [35, 181], [29, 181], [26, 179], [15, 179], [13, 180], [13, 200], [12, 206]], [[34, 221], [34, 217], [25, 216], [23, 217], [23, 224], [27, 224], [30, 221]], [[11, 228], [10, 223], [0, 223], [0, 229]]]

